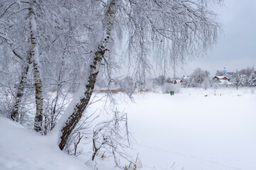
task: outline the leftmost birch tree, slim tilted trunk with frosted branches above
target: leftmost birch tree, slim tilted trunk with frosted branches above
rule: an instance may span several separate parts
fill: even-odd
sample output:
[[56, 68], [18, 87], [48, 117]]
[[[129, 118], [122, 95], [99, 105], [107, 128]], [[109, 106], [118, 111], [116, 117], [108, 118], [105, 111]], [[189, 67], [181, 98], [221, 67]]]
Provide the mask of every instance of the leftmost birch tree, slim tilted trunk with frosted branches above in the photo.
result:
[[[28, 43], [26, 43], [28, 40], [26, 21], [21, 19], [23, 16], [27, 17], [25, 11], [28, 11], [28, 8], [27, 6], [21, 6], [20, 1], [2, 1], [0, 6], [0, 38], [4, 40], [6, 44], [5, 48], [10, 51], [8, 57], [12, 60], [9, 60], [9, 64], [13, 64], [14, 66], [14, 61], [16, 60], [19, 63], [18, 67], [21, 68], [18, 83], [15, 85], [16, 88], [13, 93], [14, 101], [11, 103], [10, 111], [11, 119], [18, 121], [20, 119], [19, 108], [21, 106], [21, 98], [23, 97], [23, 91], [28, 81], [28, 68], [29, 64], [31, 64], [31, 55]], [[12, 91], [13, 86], [9, 86], [9, 89]]]

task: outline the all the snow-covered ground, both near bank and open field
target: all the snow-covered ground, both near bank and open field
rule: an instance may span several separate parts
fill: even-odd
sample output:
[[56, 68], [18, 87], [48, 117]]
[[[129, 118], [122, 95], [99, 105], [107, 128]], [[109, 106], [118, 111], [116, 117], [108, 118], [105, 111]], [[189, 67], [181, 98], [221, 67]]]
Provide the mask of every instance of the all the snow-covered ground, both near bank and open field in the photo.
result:
[[[174, 96], [141, 94], [134, 96], [136, 103], [117, 101], [137, 140], [128, 152], [139, 154], [142, 170], [256, 169], [255, 89], [181, 89]], [[89, 169], [90, 154], [75, 160], [50, 137], [11, 120], [0, 118], [0, 136], [0, 169]], [[107, 160], [97, 162], [99, 169], [111, 169]]]

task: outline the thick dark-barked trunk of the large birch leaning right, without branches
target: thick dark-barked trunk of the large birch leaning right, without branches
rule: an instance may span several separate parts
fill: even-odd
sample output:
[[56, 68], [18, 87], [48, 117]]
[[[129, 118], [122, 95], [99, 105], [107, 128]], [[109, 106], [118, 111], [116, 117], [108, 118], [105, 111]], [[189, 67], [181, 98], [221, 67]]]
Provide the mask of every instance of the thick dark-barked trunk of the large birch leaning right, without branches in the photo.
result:
[[105, 55], [105, 51], [107, 51], [107, 44], [110, 40], [110, 32], [113, 27], [113, 20], [115, 16], [115, 1], [116, 0], [110, 1], [110, 5], [107, 8], [105, 18], [102, 22], [104, 26], [102, 42], [100, 42], [99, 46], [97, 47], [95, 56], [93, 58], [93, 62], [92, 64], [90, 64], [90, 76], [88, 77], [87, 85], [85, 86], [85, 93], [83, 97], [80, 98], [80, 101], [76, 103], [73, 112], [61, 128], [61, 136], [59, 143], [59, 147], [61, 150], [65, 147], [65, 144], [68, 140], [70, 133], [78, 124], [80, 118], [82, 117], [82, 113], [85, 111], [85, 108], [87, 107], [87, 104], [89, 103], [90, 98], [92, 96], [92, 91], [95, 86], [97, 74], [99, 73], [100, 69], [100, 63], [102, 62], [102, 57], [104, 57]]

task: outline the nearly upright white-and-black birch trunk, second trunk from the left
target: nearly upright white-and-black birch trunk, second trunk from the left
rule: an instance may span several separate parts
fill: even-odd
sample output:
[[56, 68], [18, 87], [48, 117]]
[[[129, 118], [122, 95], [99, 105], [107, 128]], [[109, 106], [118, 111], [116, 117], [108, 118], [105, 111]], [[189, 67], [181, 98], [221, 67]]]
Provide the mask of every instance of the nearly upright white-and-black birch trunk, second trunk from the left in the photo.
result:
[[43, 91], [42, 91], [42, 81], [40, 77], [39, 69], [39, 52], [38, 52], [38, 42], [36, 38], [37, 28], [36, 28], [36, 13], [35, 5], [36, 0], [30, 1], [29, 7], [29, 28], [31, 30], [31, 59], [33, 60], [33, 78], [35, 81], [36, 89], [36, 116], [34, 130], [37, 132], [42, 130], [43, 123]]

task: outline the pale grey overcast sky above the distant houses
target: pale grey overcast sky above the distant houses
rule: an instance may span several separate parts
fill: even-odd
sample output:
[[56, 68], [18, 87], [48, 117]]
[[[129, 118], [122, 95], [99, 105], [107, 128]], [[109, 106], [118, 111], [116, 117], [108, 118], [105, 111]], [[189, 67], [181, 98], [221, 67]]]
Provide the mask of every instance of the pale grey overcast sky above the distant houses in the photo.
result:
[[183, 71], [177, 71], [178, 76], [189, 75], [197, 67], [211, 75], [224, 67], [228, 72], [256, 69], [256, 0], [225, 0], [224, 6], [214, 6], [213, 10], [223, 24], [218, 44], [207, 56], [188, 61]]

